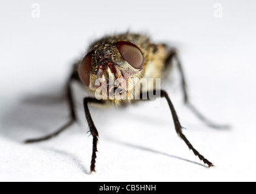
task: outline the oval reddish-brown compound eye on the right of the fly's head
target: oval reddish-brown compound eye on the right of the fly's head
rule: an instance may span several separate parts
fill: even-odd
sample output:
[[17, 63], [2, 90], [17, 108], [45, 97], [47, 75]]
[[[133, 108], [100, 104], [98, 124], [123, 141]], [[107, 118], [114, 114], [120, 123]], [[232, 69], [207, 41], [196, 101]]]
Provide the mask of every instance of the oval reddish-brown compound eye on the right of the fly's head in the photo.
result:
[[125, 59], [125, 61], [133, 66], [134, 69], [142, 69], [144, 57], [139, 47], [127, 41], [117, 42], [116, 45], [120, 55]]

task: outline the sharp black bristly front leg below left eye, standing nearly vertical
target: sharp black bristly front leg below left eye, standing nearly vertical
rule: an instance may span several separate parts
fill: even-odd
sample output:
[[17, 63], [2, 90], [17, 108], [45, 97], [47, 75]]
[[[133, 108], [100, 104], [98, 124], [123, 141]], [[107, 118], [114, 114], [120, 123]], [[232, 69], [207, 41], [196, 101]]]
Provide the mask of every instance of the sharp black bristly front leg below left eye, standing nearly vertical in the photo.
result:
[[95, 103], [95, 104], [104, 104], [104, 101], [97, 100], [95, 98], [85, 98], [83, 99], [83, 106], [85, 108], [85, 116], [86, 120], [89, 125], [89, 130], [91, 132], [91, 135], [93, 137], [92, 139], [92, 159], [91, 159], [91, 172], [95, 172], [95, 163], [96, 163], [96, 152], [97, 150], [97, 143], [99, 140], [99, 133], [94, 125], [94, 122], [92, 121], [91, 113], [89, 112], [88, 104], [89, 103]]

